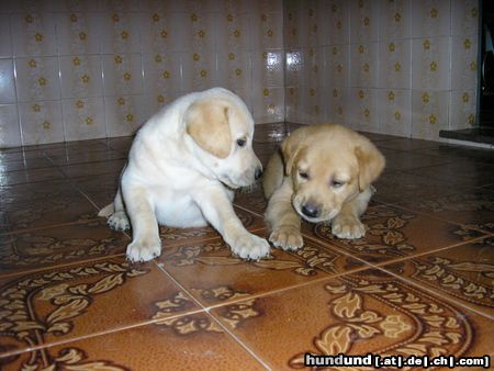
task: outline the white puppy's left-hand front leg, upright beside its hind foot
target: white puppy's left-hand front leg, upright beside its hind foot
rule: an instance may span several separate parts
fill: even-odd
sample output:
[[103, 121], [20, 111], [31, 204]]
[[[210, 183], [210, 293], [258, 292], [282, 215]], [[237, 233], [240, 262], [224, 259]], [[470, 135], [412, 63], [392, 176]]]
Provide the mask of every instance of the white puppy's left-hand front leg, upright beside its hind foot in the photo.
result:
[[158, 221], [145, 188], [126, 187], [123, 190], [125, 206], [132, 223], [132, 243], [127, 246], [127, 259], [148, 261], [161, 255]]

